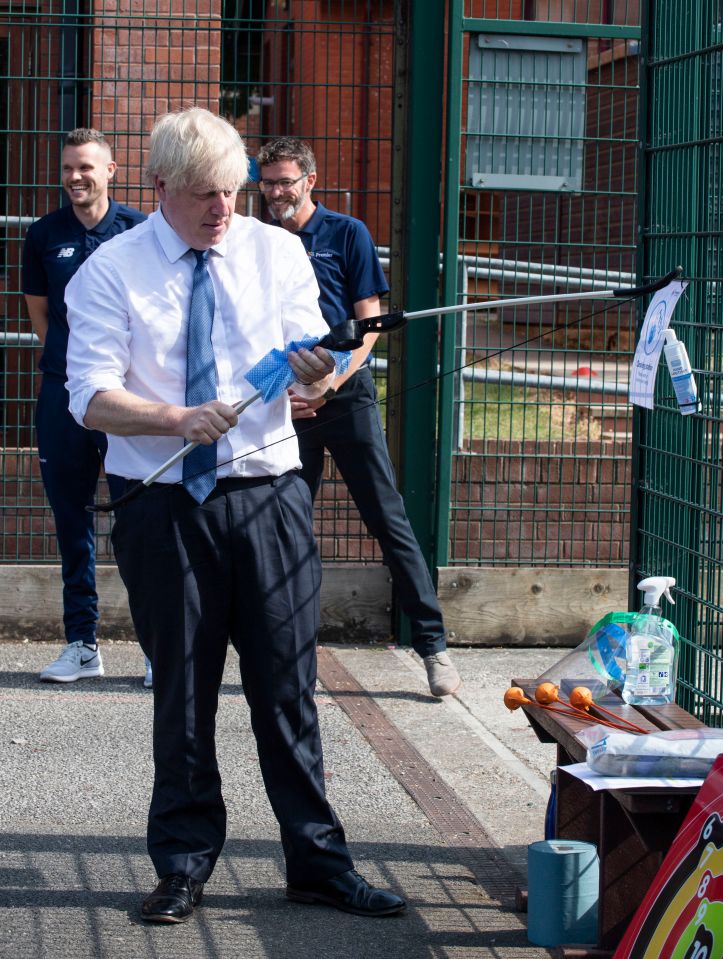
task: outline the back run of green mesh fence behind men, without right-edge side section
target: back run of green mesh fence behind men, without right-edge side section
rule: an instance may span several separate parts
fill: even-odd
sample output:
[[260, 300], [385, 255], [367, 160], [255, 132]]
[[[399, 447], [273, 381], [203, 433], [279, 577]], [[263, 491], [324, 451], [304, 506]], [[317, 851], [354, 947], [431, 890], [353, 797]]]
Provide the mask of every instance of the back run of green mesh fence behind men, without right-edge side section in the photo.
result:
[[[423, 234], [428, 249], [426, 235], [434, 240], [433, 217], [428, 222], [423, 217], [427, 207], [434, 212], [429, 177], [407, 194], [414, 255], [404, 277], [399, 222], [405, 171], [412, 171], [410, 154], [427, 148], [441, 130], [441, 107], [436, 118], [427, 107], [441, 86], [424, 90], [421, 54], [407, 51], [406, 43], [410, 16], [413, 38], [424, 31], [441, 38], [448, 6], [450, 23], [459, 18], [462, 29], [450, 30], [446, 301], [624, 284], [634, 274], [634, 44], [639, 29], [633, 4], [457, 0], [437, 2], [416, 20], [414, 7], [402, 0], [281, 5], [144, 0], [123, 11], [106, 0], [92, 12], [80, 0], [10, 6], [0, 14], [5, 57], [0, 121], [5, 121], [9, 184], [2, 354], [1, 558], [6, 562], [57, 558], [33, 453], [36, 351], [28, 345], [19, 262], [27, 223], [61, 200], [58, 160], [64, 129], [94, 124], [110, 133], [121, 170], [116, 196], [145, 209], [153, 202], [140, 172], [145, 137], [153, 118], [169, 107], [189, 100], [220, 105], [252, 154], [278, 133], [306, 137], [322, 171], [317, 195], [369, 223], [390, 264], [392, 300], [400, 300], [406, 279], [403, 305], [430, 306], [438, 251], [425, 264], [425, 276], [412, 281], [418, 261], [414, 244]], [[556, 17], [564, 22], [554, 22]], [[514, 56], [504, 52], [511, 49], [510, 38]], [[415, 56], [416, 87], [408, 91], [407, 58]], [[569, 74], [560, 66], [566, 59], [574, 61]], [[531, 84], [524, 81], [530, 62], [536, 71]], [[525, 131], [510, 125], [514, 110], [525, 106], [521, 93], [531, 97], [527, 105], [544, 118], [542, 126]], [[416, 98], [422, 128], [412, 144], [404, 138], [407, 95]], [[486, 130], [501, 104], [507, 119]], [[556, 165], [556, 153], [565, 158], [564, 170]], [[534, 172], [525, 167], [527, 154], [537, 164]], [[435, 156], [431, 160], [434, 168]], [[490, 161], [497, 181], [475, 180], [480, 171], [487, 175], [484, 165]], [[510, 177], [514, 183], [514, 177], [531, 175], [538, 177], [534, 191], [521, 189], [519, 181], [509, 186]], [[240, 207], [263, 215], [253, 190]], [[425, 301], [415, 302], [422, 289]], [[553, 337], [553, 326], [566, 328]], [[420, 457], [419, 442], [430, 435], [433, 408], [430, 413], [423, 391], [406, 404], [405, 491], [412, 513], [415, 494], [425, 512], [436, 503], [436, 546], [430, 542], [429, 555], [437, 565], [625, 561], [629, 411], [623, 394], [630, 327], [631, 313], [624, 308], [591, 320], [574, 307], [488, 314], [483, 320], [468, 318], [457, 329], [445, 324], [444, 370], [484, 362], [441, 381], [443, 455], [437, 460], [436, 490], [434, 457], [426, 452]], [[533, 337], [539, 339], [511, 349]], [[416, 333], [410, 336], [403, 355], [396, 357], [408, 364], [406, 388], [423, 378], [419, 342]], [[433, 346], [431, 337], [428, 342]], [[501, 356], [488, 358], [500, 349], [505, 350]], [[431, 402], [433, 395], [430, 387]], [[393, 422], [399, 424], [394, 401], [392, 407]], [[424, 528], [419, 515], [415, 523]], [[317, 531], [327, 561], [379, 561], [331, 464]], [[98, 555], [110, 559], [104, 522]]]

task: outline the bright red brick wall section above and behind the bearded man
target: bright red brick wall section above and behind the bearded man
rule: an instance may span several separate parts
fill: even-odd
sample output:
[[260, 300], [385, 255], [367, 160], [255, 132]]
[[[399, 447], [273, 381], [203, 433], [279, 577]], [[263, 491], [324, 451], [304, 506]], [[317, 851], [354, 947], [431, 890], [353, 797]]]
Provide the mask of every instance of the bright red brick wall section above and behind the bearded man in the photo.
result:
[[260, 124], [261, 139], [308, 140], [318, 161], [319, 199], [363, 219], [383, 245], [390, 239], [393, 24], [391, 0], [374, 4], [373, 19], [365, 4], [290, 0], [267, 21], [269, 105]]

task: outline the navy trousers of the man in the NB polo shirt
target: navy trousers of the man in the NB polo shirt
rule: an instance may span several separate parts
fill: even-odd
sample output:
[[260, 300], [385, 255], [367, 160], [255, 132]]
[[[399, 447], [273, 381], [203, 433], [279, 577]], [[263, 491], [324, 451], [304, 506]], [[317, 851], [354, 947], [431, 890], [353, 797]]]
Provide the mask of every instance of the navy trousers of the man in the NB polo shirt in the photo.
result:
[[[95, 642], [93, 503], [108, 447], [105, 433], [79, 426], [68, 411], [65, 381], [43, 376], [35, 415], [40, 472], [55, 518], [63, 575], [63, 624], [69, 643]], [[115, 493], [118, 495], [118, 487]]]

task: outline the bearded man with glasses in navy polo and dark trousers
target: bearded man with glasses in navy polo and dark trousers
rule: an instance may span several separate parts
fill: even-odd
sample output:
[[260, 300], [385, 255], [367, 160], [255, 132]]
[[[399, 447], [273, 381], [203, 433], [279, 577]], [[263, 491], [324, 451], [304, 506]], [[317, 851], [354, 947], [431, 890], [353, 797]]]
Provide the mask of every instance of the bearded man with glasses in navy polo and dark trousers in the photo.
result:
[[[389, 286], [374, 242], [360, 220], [334, 213], [312, 200], [316, 160], [308, 144], [280, 137], [262, 146], [256, 162], [259, 189], [274, 222], [304, 244], [328, 325], [333, 329], [352, 317], [379, 316], [379, 298]], [[446, 651], [446, 632], [432, 577], [396, 488], [369, 368], [377, 335], [366, 335], [364, 348], [352, 354], [348, 370], [322, 397], [308, 399], [292, 388], [302, 476], [315, 497], [324, 450], [329, 450], [367, 529], [381, 545], [397, 601], [411, 624], [412, 645], [427, 671], [430, 691], [434, 696], [446, 696], [459, 688], [461, 680]]]

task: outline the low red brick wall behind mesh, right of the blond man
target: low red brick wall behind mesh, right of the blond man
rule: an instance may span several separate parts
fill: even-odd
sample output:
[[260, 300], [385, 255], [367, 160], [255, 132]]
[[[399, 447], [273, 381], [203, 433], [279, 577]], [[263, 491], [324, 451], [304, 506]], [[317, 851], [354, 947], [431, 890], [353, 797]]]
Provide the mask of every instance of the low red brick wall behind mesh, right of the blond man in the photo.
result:
[[[449, 564], [623, 564], [629, 453], [625, 442], [477, 441], [454, 457]], [[322, 485], [319, 506], [323, 559], [380, 561], [341, 481]]]

